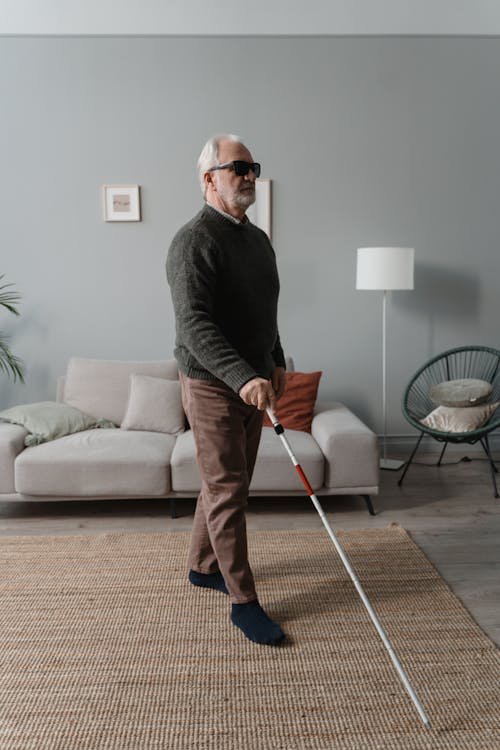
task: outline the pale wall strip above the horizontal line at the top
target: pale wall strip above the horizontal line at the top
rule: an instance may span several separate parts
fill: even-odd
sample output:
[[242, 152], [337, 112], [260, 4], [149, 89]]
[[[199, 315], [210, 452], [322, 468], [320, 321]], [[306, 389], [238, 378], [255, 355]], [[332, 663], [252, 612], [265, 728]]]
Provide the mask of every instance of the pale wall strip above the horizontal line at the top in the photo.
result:
[[3, 34], [341, 35], [500, 32], [498, 0], [2, 0]]

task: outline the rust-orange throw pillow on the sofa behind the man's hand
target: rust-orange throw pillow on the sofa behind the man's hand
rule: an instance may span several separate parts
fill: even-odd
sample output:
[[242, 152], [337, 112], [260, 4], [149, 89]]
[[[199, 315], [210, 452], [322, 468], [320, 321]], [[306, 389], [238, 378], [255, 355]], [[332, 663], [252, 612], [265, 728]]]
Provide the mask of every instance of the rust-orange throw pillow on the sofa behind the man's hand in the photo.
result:
[[[321, 372], [287, 372], [286, 388], [276, 404], [275, 414], [285, 430], [311, 432], [314, 405]], [[264, 426], [272, 427], [264, 414]]]

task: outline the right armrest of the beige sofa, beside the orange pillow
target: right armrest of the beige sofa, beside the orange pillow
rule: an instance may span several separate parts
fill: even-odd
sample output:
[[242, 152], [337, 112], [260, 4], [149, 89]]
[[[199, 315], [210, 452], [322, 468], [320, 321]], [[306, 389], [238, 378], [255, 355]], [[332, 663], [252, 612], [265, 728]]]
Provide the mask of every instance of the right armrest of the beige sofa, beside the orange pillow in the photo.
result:
[[311, 434], [325, 457], [325, 487], [378, 487], [377, 436], [344, 404], [317, 404]]

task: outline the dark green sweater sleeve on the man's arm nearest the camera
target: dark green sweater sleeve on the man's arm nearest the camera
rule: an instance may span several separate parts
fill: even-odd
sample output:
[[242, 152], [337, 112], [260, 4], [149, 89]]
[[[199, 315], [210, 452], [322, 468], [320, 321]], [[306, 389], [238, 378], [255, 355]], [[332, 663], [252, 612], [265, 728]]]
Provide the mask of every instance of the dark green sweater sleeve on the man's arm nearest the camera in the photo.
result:
[[236, 393], [255, 370], [240, 357], [214, 320], [217, 247], [194, 230], [176, 238], [169, 253], [167, 276], [172, 292], [177, 336], [196, 363]]

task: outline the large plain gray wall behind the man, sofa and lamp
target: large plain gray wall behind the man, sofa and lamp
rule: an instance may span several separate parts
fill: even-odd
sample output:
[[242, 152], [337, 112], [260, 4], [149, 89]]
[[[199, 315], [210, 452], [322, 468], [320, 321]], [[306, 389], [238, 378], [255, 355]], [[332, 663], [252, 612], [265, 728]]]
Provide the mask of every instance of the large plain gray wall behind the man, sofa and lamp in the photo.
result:
[[[410, 374], [498, 346], [500, 42], [479, 38], [2, 38], [0, 326], [27, 364], [0, 406], [52, 398], [72, 355], [170, 356], [164, 259], [198, 209], [194, 164], [241, 134], [273, 180], [280, 329], [321, 396], [381, 429], [381, 310], [356, 248], [416, 248], [388, 306], [389, 433]], [[139, 183], [143, 221], [102, 220], [103, 183]]]

